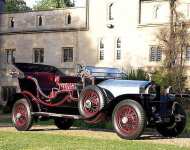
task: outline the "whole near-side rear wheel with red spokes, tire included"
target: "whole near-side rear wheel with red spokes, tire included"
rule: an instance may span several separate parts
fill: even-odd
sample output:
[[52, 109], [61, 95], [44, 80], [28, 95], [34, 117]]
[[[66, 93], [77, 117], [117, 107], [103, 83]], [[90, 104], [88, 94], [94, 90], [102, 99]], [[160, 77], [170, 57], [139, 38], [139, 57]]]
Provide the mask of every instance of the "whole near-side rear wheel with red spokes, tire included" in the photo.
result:
[[12, 122], [19, 131], [27, 131], [32, 126], [31, 105], [26, 99], [18, 100], [12, 109]]

